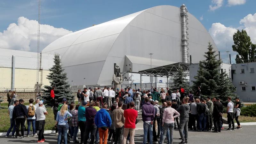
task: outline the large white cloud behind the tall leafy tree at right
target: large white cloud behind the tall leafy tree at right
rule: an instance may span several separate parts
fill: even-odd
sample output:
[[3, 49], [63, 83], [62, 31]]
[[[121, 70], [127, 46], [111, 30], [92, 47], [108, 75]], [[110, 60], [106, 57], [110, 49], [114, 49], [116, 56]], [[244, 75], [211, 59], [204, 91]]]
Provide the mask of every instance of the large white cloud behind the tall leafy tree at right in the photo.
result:
[[246, 30], [251, 37], [252, 43], [256, 44], [256, 13], [254, 15], [248, 14], [244, 19], [240, 20], [240, 24], [243, 25], [238, 28], [232, 28], [226, 27], [221, 23], [213, 23], [209, 29], [210, 35], [224, 58], [227, 57], [225, 52], [227, 50], [231, 51], [233, 58], [235, 57], [236, 52], [233, 52], [232, 45], [234, 44], [233, 35], [237, 29], [241, 30], [243, 28]]

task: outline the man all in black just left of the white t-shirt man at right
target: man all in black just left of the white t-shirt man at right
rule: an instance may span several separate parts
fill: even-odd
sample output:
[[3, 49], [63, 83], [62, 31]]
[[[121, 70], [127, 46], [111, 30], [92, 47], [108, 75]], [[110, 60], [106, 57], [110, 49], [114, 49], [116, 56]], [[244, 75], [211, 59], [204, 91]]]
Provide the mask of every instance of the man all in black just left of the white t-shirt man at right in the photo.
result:
[[223, 105], [221, 102], [219, 102], [219, 100], [219, 98], [216, 98], [213, 105], [213, 124], [215, 128], [213, 132], [221, 132], [221, 116], [223, 113]]

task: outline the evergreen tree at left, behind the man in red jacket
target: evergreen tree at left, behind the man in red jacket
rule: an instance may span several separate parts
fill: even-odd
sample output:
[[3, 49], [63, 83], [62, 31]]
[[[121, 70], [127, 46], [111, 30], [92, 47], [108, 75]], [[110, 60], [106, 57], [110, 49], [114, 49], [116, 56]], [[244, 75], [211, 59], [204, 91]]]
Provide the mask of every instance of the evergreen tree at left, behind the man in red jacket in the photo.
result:
[[64, 73], [64, 69], [60, 64], [60, 55], [54, 55], [54, 64], [52, 68], [50, 68], [50, 74], [47, 76], [49, 79], [50, 85], [44, 86], [44, 93], [42, 95], [42, 99], [45, 103], [51, 105], [51, 90], [52, 87], [55, 86], [54, 95], [55, 100], [61, 102], [63, 98], [68, 100], [68, 103], [74, 101], [74, 95], [72, 95], [69, 84], [67, 82], [67, 73]]

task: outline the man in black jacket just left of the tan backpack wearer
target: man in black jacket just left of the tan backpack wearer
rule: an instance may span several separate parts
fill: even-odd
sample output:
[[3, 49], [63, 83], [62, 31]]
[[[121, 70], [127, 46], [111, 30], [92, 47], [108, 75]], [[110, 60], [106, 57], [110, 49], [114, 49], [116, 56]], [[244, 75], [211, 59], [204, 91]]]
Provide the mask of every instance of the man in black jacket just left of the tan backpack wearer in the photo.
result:
[[24, 127], [25, 127], [25, 121], [28, 117], [28, 111], [26, 106], [23, 105], [23, 100], [19, 100], [19, 104], [14, 107], [12, 118], [15, 119], [16, 122], [16, 137], [19, 138], [19, 132], [20, 132], [20, 125], [21, 125], [21, 139], [24, 137]]

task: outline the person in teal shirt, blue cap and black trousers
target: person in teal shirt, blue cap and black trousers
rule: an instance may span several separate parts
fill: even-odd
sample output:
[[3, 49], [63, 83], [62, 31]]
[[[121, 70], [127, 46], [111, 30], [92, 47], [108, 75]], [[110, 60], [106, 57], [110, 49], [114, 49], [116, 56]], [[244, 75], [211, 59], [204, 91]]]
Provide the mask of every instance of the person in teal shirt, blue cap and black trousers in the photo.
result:
[[82, 106], [78, 108], [78, 125], [81, 131], [81, 143], [84, 141], [85, 136], [85, 128], [86, 128], [86, 118], [85, 118], [85, 107], [87, 105], [87, 101], [82, 102]]

